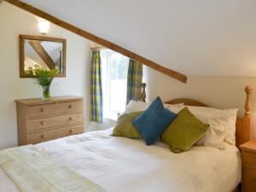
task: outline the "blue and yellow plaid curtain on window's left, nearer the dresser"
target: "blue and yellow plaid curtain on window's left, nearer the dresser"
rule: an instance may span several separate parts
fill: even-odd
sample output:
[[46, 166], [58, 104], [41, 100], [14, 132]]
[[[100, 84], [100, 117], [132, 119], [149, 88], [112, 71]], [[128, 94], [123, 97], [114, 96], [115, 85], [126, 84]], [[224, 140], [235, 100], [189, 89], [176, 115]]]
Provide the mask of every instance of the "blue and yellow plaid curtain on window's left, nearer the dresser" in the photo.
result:
[[90, 121], [102, 123], [102, 61], [99, 50], [92, 51], [90, 69]]

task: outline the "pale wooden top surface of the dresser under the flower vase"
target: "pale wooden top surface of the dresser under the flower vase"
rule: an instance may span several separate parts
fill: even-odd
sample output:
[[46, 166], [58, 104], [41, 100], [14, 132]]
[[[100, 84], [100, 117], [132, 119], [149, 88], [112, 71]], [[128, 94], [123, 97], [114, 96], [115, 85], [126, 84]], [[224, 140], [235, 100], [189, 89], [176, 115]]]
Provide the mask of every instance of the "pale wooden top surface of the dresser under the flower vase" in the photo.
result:
[[52, 96], [49, 100], [42, 100], [41, 98], [32, 98], [32, 99], [19, 99], [15, 102], [25, 104], [25, 105], [42, 105], [47, 103], [55, 102], [72, 102], [82, 100], [82, 96]]

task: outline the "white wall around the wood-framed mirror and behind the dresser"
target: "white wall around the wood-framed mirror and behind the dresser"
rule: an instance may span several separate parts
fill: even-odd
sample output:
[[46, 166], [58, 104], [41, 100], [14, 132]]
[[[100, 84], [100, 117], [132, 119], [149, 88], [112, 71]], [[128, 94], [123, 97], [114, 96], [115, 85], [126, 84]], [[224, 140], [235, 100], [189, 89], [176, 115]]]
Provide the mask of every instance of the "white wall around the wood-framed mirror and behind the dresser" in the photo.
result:
[[[19, 35], [42, 36], [35, 16], [9, 3], [0, 5], [0, 148], [17, 144], [15, 99], [41, 97], [34, 79], [20, 79]], [[89, 124], [90, 42], [72, 32], [50, 25], [47, 37], [67, 39], [67, 77], [57, 78], [52, 96], [84, 96], [84, 123]]]

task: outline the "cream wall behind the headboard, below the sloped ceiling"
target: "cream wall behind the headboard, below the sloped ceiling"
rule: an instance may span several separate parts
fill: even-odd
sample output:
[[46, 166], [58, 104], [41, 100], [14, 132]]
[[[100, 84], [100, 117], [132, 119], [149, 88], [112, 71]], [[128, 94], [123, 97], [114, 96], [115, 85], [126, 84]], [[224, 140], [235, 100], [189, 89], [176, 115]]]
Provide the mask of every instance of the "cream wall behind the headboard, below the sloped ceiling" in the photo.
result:
[[244, 114], [245, 87], [253, 86], [253, 130], [256, 137], [256, 77], [189, 76], [187, 84], [144, 67], [147, 102], [160, 96], [163, 102], [175, 98], [192, 98], [214, 108], [239, 108]]

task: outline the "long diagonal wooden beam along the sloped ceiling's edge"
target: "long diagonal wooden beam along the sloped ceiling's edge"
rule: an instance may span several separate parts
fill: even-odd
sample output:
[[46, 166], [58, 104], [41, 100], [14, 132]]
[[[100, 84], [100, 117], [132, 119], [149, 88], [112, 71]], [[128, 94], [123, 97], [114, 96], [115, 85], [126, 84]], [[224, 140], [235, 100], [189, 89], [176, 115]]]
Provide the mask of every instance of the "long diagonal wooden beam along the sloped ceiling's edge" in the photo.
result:
[[66, 21], [59, 20], [58, 18], [54, 17], [53, 15], [49, 15], [49, 14], [45, 13], [44, 11], [37, 9], [35, 7], [32, 7], [31, 5], [29, 5], [27, 3], [23, 3], [19, 0], [5, 0], [5, 1], [19, 7], [20, 9], [24, 9], [27, 12], [32, 13], [33, 15], [37, 15], [41, 18], [44, 18], [45, 20], [49, 20], [50, 22], [54, 23], [55, 25], [61, 26], [70, 32], [74, 32], [74, 33], [78, 34], [79, 36], [82, 36], [83, 38], [87, 38], [90, 41], [96, 42], [97, 44], [101, 44], [102, 46], [107, 47], [108, 49], [113, 49], [114, 51], [116, 51], [122, 55], [125, 55], [135, 61], [139, 61], [139, 62], [143, 63], [144, 65], [159, 71], [160, 73], [165, 73], [166, 75], [171, 76], [172, 78], [177, 79], [183, 83], [187, 82], [187, 76], [183, 75], [182, 73], [178, 73], [178, 72], [176, 72], [172, 69], [169, 69], [167, 67], [160, 66], [160, 64], [158, 64], [154, 61], [150, 61], [150, 60], [146, 59], [145, 57], [143, 57], [141, 55], [137, 55], [128, 49], [120, 47], [117, 44], [113, 44], [113, 43], [109, 42], [108, 40], [99, 38], [96, 35], [91, 34], [90, 32], [85, 32], [84, 30], [80, 29], [79, 27], [73, 26], [73, 25], [67, 23]]

